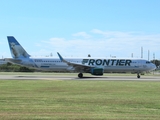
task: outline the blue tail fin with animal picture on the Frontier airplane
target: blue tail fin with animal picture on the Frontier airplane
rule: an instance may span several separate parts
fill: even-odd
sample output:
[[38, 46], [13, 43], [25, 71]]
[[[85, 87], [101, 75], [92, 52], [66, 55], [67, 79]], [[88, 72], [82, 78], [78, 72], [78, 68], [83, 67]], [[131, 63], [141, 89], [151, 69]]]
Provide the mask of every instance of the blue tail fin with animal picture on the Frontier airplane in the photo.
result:
[[13, 36], [7, 36], [9, 48], [13, 58], [28, 58], [30, 55]]

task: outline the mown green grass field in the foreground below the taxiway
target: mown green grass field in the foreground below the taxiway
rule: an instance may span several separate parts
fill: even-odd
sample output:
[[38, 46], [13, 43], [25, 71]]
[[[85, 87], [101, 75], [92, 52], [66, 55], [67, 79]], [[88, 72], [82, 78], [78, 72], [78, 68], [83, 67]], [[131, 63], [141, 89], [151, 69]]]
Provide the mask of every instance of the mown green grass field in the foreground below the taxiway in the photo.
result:
[[0, 80], [0, 119], [160, 118], [160, 82]]

